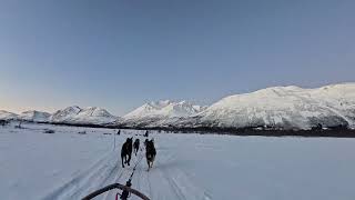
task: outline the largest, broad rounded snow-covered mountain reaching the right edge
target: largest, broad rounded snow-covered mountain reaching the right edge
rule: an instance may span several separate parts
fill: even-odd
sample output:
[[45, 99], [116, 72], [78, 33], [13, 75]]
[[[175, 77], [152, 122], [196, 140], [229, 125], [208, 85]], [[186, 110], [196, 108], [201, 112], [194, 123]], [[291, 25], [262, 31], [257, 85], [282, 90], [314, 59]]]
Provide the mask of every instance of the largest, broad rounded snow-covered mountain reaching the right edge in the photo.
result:
[[[273, 87], [223, 98], [174, 127], [311, 129], [355, 127], [355, 83], [316, 89]], [[166, 124], [165, 124], [166, 126]]]

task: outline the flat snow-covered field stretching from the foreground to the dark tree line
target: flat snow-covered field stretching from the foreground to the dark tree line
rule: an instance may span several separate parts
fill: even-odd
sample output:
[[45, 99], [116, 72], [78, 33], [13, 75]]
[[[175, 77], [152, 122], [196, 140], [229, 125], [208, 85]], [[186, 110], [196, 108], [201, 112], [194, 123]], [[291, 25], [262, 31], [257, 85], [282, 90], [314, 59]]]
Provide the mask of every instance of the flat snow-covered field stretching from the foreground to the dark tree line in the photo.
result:
[[[80, 199], [113, 182], [125, 138], [142, 131], [23, 124], [0, 127], [0, 199]], [[50, 128], [55, 133], [43, 133]], [[79, 134], [79, 131], [87, 134]], [[132, 188], [153, 200], [354, 200], [355, 139], [152, 133], [151, 171]], [[141, 138], [141, 141], [143, 138]], [[142, 152], [141, 152], [142, 153]], [[136, 157], [133, 156], [132, 163]], [[114, 192], [98, 199], [114, 200]], [[131, 198], [138, 199], [138, 198]]]

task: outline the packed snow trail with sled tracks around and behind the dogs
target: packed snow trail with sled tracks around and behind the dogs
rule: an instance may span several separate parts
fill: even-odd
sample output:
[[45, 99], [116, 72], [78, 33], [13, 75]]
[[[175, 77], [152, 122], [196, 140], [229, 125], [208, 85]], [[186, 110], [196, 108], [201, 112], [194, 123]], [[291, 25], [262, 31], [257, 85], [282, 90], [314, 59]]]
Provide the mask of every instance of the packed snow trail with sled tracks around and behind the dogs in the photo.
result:
[[[143, 140], [143, 138], [141, 138]], [[142, 146], [141, 146], [142, 147]], [[120, 149], [120, 148], [118, 148]], [[120, 151], [115, 150], [98, 160], [78, 176], [45, 194], [43, 200], [54, 199], [82, 199], [89, 193], [111, 183], [121, 183], [130, 179], [133, 167], [138, 163], [132, 177], [132, 188], [143, 192], [154, 200], [210, 200], [211, 197], [202, 188], [195, 186], [192, 179], [179, 166], [174, 167], [172, 161], [174, 154], [158, 148], [159, 154], [153, 168], [148, 171], [145, 150], [140, 149], [138, 156], [132, 153], [131, 164], [121, 167]], [[112, 190], [95, 199], [113, 200], [121, 190]], [[132, 196], [130, 199], [140, 199]]]

